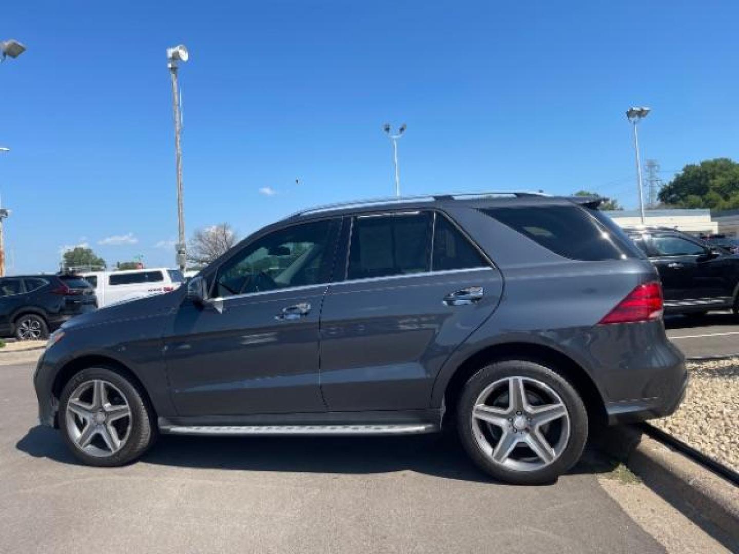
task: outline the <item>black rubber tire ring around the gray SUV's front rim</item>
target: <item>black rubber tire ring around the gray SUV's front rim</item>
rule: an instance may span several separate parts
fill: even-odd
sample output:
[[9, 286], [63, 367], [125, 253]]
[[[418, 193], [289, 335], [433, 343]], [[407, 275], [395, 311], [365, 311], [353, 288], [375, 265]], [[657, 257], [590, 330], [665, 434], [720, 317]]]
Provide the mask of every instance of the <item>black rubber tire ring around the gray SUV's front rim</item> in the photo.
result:
[[[67, 421], [67, 406], [72, 393], [85, 383], [103, 380], [114, 386], [128, 403], [130, 408], [130, 430], [120, 450], [109, 456], [93, 456], [82, 450], [72, 438]], [[138, 459], [157, 439], [158, 429], [154, 409], [149, 406], [146, 394], [138, 383], [129, 379], [123, 372], [114, 367], [91, 367], [75, 374], [64, 386], [59, 399], [59, 428], [64, 442], [72, 454], [86, 465], [99, 468], [115, 468]]]

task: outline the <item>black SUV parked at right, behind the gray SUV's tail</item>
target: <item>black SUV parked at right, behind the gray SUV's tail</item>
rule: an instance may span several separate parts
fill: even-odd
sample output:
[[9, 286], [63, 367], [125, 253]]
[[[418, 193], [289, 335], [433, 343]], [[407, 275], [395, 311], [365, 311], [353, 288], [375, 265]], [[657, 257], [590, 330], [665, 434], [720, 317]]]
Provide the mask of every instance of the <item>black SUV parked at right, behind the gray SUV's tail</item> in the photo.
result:
[[675, 229], [634, 228], [627, 233], [657, 267], [665, 312], [738, 312], [739, 256]]

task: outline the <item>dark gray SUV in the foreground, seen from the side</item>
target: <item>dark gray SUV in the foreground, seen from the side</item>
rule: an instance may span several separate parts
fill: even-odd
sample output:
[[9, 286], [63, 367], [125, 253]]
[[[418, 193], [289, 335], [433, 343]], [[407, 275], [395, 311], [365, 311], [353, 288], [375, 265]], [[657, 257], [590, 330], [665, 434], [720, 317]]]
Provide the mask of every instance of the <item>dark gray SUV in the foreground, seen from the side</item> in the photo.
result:
[[157, 434], [408, 435], [551, 482], [588, 430], [686, 385], [658, 275], [597, 210], [531, 193], [333, 205], [257, 231], [188, 287], [81, 315], [34, 375], [41, 423], [117, 466]]

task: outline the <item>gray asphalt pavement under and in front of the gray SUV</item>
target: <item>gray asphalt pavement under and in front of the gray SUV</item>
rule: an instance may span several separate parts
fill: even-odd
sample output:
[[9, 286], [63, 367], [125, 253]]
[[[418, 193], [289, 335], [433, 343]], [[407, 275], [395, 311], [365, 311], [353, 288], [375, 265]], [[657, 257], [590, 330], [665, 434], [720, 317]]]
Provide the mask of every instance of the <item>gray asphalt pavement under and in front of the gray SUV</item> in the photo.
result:
[[163, 437], [126, 468], [77, 465], [36, 425], [33, 363], [0, 366], [0, 552], [656, 553], [577, 466], [486, 479], [440, 436]]

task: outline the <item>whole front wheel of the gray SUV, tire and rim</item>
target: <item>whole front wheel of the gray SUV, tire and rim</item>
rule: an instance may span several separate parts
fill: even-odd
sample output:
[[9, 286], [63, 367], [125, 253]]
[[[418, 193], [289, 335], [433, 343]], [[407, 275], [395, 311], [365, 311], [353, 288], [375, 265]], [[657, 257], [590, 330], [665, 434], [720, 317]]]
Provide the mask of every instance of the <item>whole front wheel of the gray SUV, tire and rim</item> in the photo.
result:
[[84, 369], [64, 386], [59, 401], [64, 441], [88, 465], [125, 465], [156, 438], [143, 391], [114, 369]]

